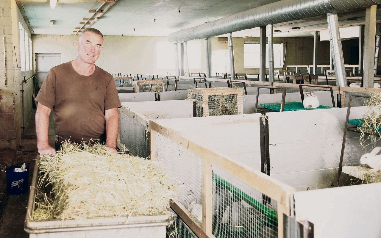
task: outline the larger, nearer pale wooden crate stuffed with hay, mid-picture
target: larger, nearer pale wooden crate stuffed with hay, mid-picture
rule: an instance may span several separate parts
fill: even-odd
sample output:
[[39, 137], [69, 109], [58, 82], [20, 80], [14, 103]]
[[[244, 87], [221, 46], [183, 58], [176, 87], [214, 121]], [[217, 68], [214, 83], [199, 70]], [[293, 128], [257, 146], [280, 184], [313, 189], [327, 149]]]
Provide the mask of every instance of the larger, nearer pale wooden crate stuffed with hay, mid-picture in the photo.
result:
[[192, 88], [188, 99], [196, 102], [196, 116], [235, 115], [243, 113], [240, 88]]

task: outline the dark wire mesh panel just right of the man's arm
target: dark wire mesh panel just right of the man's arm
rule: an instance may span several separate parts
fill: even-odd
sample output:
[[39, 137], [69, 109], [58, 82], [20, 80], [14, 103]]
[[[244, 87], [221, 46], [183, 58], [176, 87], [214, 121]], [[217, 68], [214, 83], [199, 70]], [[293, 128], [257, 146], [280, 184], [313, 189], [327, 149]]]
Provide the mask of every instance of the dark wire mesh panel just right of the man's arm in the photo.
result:
[[129, 117], [124, 112], [119, 113], [119, 137], [120, 142], [125, 145], [134, 156], [146, 158], [148, 138], [146, 126], [143, 126], [134, 118]]

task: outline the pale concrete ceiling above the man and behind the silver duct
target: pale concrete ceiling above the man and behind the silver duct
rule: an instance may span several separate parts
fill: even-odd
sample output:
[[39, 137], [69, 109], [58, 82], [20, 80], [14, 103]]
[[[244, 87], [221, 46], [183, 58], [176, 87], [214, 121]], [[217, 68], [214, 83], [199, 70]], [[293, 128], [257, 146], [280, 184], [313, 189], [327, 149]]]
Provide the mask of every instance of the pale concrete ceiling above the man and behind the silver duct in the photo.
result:
[[[198, 26], [276, 0], [58, 0], [54, 9], [49, 0], [16, 0], [32, 34], [70, 35], [84, 27], [83, 18], [104, 35], [168, 36], [181, 29]], [[105, 0], [103, 0], [105, 1]], [[114, 1], [114, 0], [112, 0]], [[90, 10], [105, 13], [89, 13]], [[180, 12], [179, 12], [180, 9]], [[380, 14], [377, 14], [380, 15]], [[379, 18], [379, 17], [378, 17]], [[49, 27], [49, 21], [54, 25]], [[339, 14], [342, 26], [365, 22], [365, 10]], [[77, 29], [76, 29], [77, 28]], [[274, 37], [312, 37], [311, 32], [327, 29], [324, 16], [274, 25]], [[259, 28], [233, 33], [234, 37], [258, 37]]]

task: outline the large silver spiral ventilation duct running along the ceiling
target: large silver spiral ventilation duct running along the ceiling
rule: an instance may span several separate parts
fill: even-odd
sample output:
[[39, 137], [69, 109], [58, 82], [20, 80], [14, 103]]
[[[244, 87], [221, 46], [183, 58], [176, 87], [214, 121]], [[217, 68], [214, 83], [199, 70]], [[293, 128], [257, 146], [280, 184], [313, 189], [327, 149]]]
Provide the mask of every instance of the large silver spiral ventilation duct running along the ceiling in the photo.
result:
[[257, 8], [242, 11], [200, 26], [173, 32], [168, 36], [171, 43], [205, 39], [229, 32], [251, 29], [281, 22], [326, 16], [367, 6], [377, 5], [381, 0], [281, 0]]

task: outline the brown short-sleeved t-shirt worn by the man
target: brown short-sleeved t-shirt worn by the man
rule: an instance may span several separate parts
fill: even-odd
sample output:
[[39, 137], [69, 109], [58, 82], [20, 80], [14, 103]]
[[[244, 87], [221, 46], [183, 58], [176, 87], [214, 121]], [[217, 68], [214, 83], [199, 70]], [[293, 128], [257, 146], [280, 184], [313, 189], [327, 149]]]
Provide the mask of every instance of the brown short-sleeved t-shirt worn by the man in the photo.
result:
[[35, 100], [54, 110], [54, 132], [73, 141], [98, 139], [105, 133], [104, 111], [121, 107], [110, 73], [95, 66], [83, 76], [71, 61], [49, 70]]

